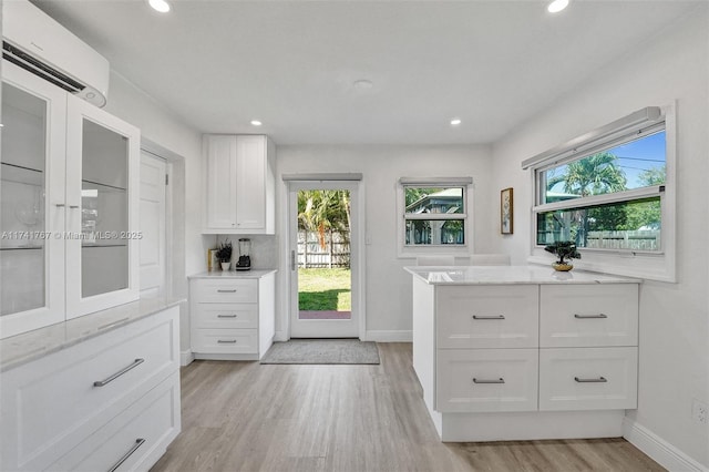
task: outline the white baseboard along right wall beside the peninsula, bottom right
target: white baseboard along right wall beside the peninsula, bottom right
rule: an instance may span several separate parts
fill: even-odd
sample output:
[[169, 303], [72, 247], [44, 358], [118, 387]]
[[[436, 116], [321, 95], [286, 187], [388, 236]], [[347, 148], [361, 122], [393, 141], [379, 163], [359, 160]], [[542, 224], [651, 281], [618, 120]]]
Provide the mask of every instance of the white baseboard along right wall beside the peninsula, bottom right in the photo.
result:
[[709, 471], [708, 468], [627, 417], [623, 421], [623, 437], [669, 471]]

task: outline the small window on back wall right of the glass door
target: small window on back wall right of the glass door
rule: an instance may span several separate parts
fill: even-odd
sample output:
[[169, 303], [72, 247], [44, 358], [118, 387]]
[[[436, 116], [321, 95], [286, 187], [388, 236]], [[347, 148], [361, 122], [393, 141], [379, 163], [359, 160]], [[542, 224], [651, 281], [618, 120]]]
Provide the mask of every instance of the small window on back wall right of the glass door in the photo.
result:
[[[472, 178], [400, 181], [400, 253], [450, 253], [467, 246], [467, 185]], [[417, 250], [418, 248], [423, 249]]]

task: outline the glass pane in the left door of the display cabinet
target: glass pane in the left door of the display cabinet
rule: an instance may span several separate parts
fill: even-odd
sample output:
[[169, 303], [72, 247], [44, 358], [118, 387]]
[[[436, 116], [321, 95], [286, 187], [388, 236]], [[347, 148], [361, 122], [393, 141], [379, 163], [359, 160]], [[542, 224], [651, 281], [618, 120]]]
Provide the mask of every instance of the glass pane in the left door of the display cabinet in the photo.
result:
[[0, 316], [47, 305], [48, 103], [3, 84], [0, 154]]

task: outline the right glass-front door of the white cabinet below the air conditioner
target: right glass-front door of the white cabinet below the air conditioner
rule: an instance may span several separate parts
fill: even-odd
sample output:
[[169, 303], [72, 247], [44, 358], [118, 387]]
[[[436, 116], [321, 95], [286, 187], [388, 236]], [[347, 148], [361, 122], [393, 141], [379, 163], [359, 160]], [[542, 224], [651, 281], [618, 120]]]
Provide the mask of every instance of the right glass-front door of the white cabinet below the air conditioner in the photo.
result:
[[66, 317], [138, 298], [140, 131], [68, 96]]

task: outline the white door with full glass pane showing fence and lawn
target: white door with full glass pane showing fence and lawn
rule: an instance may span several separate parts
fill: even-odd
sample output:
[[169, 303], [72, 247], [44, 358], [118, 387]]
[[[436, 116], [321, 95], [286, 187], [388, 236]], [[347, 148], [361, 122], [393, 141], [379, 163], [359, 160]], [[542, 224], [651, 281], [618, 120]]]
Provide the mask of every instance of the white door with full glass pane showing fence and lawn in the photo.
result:
[[291, 338], [360, 336], [358, 195], [358, 182], [289, 183]]

